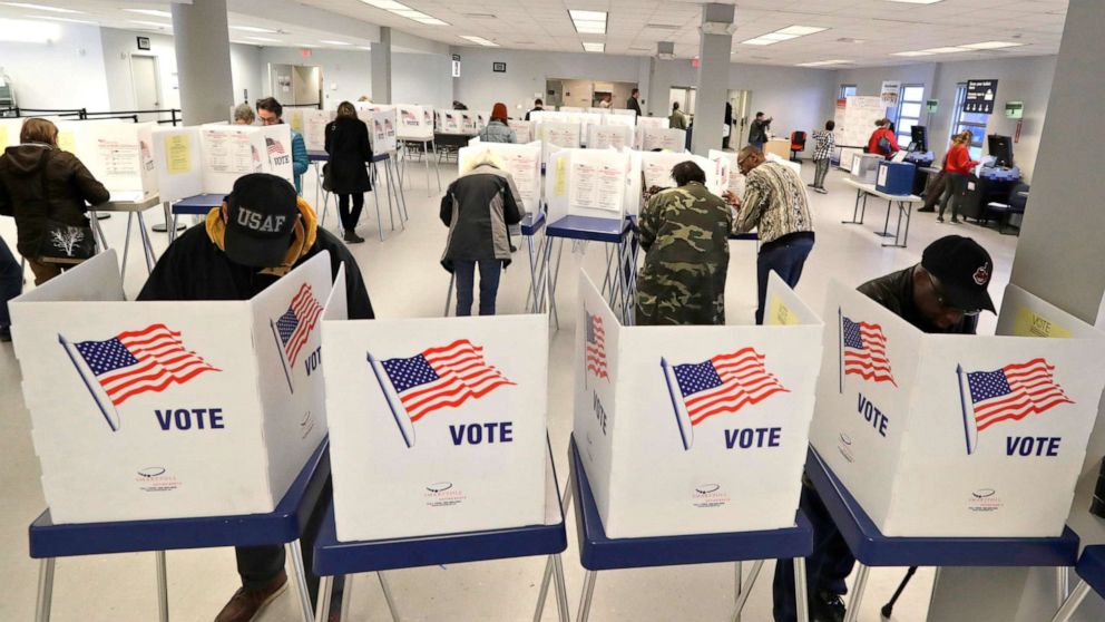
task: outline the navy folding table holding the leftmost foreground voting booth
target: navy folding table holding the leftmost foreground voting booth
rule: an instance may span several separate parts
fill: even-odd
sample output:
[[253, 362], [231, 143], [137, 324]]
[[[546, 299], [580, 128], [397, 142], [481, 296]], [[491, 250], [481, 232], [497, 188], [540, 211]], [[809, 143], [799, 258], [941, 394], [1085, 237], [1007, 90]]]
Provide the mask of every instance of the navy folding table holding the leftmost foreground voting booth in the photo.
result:
[[327, 440], [319, 444], [284, 498], [270, 514], [55, 525], [47, 509], [29, 528], [30, 556], [41, 560], [36, 622], [50, 619], [57, 557], [156, 552], [158, 619], [166, 622], [169, 619], [166, 551], [275, 544], [287, 546], [303, 620], [310, 622], [313, 615], [299, 541], [330, 478], [327, 447]]

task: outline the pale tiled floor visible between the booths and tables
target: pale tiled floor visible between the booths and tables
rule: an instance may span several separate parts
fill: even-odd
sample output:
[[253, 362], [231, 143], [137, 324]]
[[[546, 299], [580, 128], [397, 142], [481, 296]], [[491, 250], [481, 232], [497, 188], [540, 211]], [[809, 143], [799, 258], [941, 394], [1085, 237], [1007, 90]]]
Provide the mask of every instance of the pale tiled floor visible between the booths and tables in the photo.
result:
[[[441, 313], [449, 283], [438, 263], [446, 229], [438, 221], [440, 193], [433, 184], [428, 196], [421, 167], [408, 176], [410, 222], [405, 231], [391, 233], [383, 243], [377, 239], [372, 200], [362, 218], [360, 233], [368, 242], [354, 246], [354, 254], [368, 283], [378, 317], [433, 317]], [[812, 178], [812, 166], [803, 172]], [[932, 214], [915, 214], [908, 249], [883, 249], [881, 230], [884, 211], [871, 202], [868, 224], [842, 225], [850, 217], [854, 193], [840, 183], [843, 173], [833, 172], [829, 194], [811, 194], [818, 242], [806, 263], [798, 292], [813, 309], [824, 304], [830, 279], [849, 285], [906, 268], [919, 261], [925, 245], [940, 235], [956, 232], [972, 235], [989, 250], [995, 261], [990, 288], [996, 302], [1009, 279], [1017, 239], [999, 235], [975, 225], [939, 225]], [[442, 166], [442, 185], [454, 176], [452, 165]], [[306, 196], [314, 196], [314, 178], [309, 174]], [[383, 207], [387, 208], [385, 206]], [[154, 221], [159, 217], [153, 216]], [[384, 215], [387, 221], [387, 213]], [[121, 246], [125, 218], [116, 215], [105, 221], [113, 244]], [[326, 218], [336, 226], [335, 213]], [[9, 218], [0, 220], [0, 233], [14, 240]], [[390, 233], [390, 232], [389, 232]], [[137, 241], [137, 236], [135, 237]], [[159, 252], [165, 235], [154, 234]], [[586, 265], [602, 273], [603, 250], [597, 245], [565, 246], [558, 304], [575, 305], [575, 271]], [[141, 286], [145, 270], [137, 253], [131, 253], [127, 291]], [[726, 291], [731, 323], [751, 322], [755, 304], [755, 245], [734, 242]], [[528, 286], [525, 251], [507, 271], [499, 294], [500, 312], [519, 312]], [[552, 338], [549, 365], [549, 428], [558, 465], [564, 465], [571, 421], [571, 375], [568, 371], [575, 327], [571, 313], [561, 313], [560, 331]], [[992, 332], [994, 317], [984, 318], [981, 332]], [[0, 415], [0, 568], [4, 593], [0, 596], [0, 620], [30, 620], [35, 606], [37, 563], [27, 557], [27, 525], [43, 507], [39, 487], [39, 467], [30, 438], [30, 420], [23, 408], [19, 368], [11, 346], [0, 346], [0, 389], [3, 408]], [[569, 546], [565, 553], [568, 599], [571, 613], [578, 602], [583, 568], [578, 565], [575, 527], [569, 518]], [[544, 558], [522, 558], [448, 567], [426, 567], [388, 573], [404, 620], [521, 621], [532, 618]], [[182, 551], [168, 554], [170, 612], [175, 620], [211, 620], [237, 586], [234, 556], [229, 550]], [[747, 565], [746, 565], [747, 567]], [[67, 558], [57, 565], [53, 620], [147, 621], [156, 620], [154, 594], [154, 555], [123, 554], [87, 558]], [[771, 620], [770, 579], [773, 564], [765, 564], [761, 581], [753, 591], [744, 613], [745, 621]], [[904, 568], [876, 570], [868, 585], [861, 620], [878, 619], [878, 611], [904, 574]], [[922, 568], [906, 590], [894, 611], [894, 620], [925, 620], [933, 572]], [[289, 592], [262, 616], [265, 622], [296, 620]], [[727, 620], [733, 601], [733, 566], [703, 566], [629, 570], [602, 573], [591, 610], [596, 622], [608, 620]], [[545, 620], [555, 620], [555, 601], [546, 606]], [[388, 620], [379, 583], [360, 576], [353, 586], [354, 620]]]

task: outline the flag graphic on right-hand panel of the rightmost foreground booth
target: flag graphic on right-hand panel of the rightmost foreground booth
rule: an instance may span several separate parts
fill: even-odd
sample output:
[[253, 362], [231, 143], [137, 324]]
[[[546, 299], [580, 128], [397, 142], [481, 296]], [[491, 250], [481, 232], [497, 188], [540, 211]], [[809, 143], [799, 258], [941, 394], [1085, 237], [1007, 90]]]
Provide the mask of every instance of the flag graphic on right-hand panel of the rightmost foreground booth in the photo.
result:
[[1060, 404], [1074, 404], [1055, 383], [1055, 366], [1044, 359], [1007, 365], [996, 371], [967, 373], [978, 431], [1005, 420], [1039, 415]]

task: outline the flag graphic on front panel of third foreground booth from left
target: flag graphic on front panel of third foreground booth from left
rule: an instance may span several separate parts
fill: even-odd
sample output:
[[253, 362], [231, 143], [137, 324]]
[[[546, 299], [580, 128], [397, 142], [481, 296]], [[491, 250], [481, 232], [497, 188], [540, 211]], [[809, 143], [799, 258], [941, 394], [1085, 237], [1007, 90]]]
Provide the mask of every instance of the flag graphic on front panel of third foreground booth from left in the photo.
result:
[[673, 367], [691, 425], [697, 426], [714, 415], [736, 412], [775, 393], [788, 392], [767, 371], [763, 360], [764, 356], [754, 348], [742, 348], [701, 363]]

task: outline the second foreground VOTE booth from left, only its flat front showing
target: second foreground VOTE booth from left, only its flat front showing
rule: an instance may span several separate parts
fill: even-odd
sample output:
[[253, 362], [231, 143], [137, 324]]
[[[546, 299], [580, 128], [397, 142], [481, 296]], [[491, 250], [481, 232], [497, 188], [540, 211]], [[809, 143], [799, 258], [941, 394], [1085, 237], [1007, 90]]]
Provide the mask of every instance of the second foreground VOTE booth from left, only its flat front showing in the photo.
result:
[[325, 321], [323, 342], [339, 540], [545, 523], [547, 315]]

